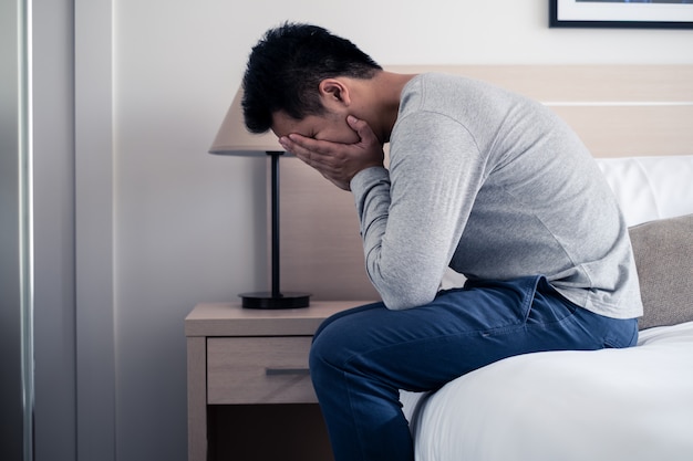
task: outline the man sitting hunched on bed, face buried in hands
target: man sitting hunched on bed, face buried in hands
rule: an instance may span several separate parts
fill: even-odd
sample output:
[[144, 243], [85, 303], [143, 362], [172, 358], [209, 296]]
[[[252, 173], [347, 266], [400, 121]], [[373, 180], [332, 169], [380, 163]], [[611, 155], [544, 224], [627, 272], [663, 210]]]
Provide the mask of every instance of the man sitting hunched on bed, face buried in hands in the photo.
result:
[[[313, 340], [335, 460], [413, 460], [399, 389], [435, 390], [518, 354], [635, 344], [625, 223], [586, 147], [541, 105], [459, 76], [385, 72], [350, 41], [292, 23], [254, 48], [244, 87], [250, 130], [272, 129], [352, 191], [383, 300], [329, 318]], [[447, 266], [463, 289], [438, 291]]]

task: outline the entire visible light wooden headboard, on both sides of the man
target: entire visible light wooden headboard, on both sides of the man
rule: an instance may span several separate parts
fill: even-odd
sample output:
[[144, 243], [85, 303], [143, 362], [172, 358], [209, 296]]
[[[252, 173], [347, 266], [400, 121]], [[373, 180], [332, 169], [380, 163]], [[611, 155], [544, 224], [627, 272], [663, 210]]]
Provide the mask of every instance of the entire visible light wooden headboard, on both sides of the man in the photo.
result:
[[[390, 66], [490, 82], [561, 116], [594, 157], [693, 154], [693, 65]], [[281, 287], [314, 300], [377, 300], [350, 192], [296, 159], [281, 168]], [[692, 178], [693, 179], [693, 178]]]

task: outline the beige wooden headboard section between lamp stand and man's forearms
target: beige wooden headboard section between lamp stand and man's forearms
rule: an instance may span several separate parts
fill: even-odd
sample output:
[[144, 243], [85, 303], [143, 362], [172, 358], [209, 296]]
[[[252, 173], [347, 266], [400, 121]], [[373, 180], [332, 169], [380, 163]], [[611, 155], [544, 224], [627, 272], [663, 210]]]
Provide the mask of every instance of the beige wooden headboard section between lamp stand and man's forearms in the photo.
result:
[[351, 192], [296, 158], [280, 168], [282, 290], [313, 300], [380, 300], [365, 273]]

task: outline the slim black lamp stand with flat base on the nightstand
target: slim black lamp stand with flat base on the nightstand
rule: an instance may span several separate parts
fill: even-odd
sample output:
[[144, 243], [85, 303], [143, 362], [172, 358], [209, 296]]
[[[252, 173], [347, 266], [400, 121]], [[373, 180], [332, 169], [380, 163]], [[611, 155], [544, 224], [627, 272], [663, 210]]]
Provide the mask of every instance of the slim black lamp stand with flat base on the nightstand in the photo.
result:
[[299, 308], [310, 304], [309, 293], [282, 293], [279, 289], [279, 157], [282, 151], [268, 151], [271, 160], [271, 255], [272, 255], [272, 291], [241, 293], [246, 308]]

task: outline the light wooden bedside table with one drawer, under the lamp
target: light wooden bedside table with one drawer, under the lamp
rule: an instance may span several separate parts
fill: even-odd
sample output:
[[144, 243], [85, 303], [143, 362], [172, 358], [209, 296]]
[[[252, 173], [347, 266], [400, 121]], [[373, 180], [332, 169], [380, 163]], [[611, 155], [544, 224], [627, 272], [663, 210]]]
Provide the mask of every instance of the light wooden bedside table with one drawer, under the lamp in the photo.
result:
[[[312, 335], [330, 315], [368, 303], [317, 301], [307, 308], [277, 311], [241, 308], [240, 303], [195, 306], [185, 319], [188, 460], [207, 461], [214, 431], [208, 421], [215, 420], [208, 410], [217, 406], [317, 404], [308, 370]], [[272, 433], [262, 436], [265, 443], [272, 441]]]

